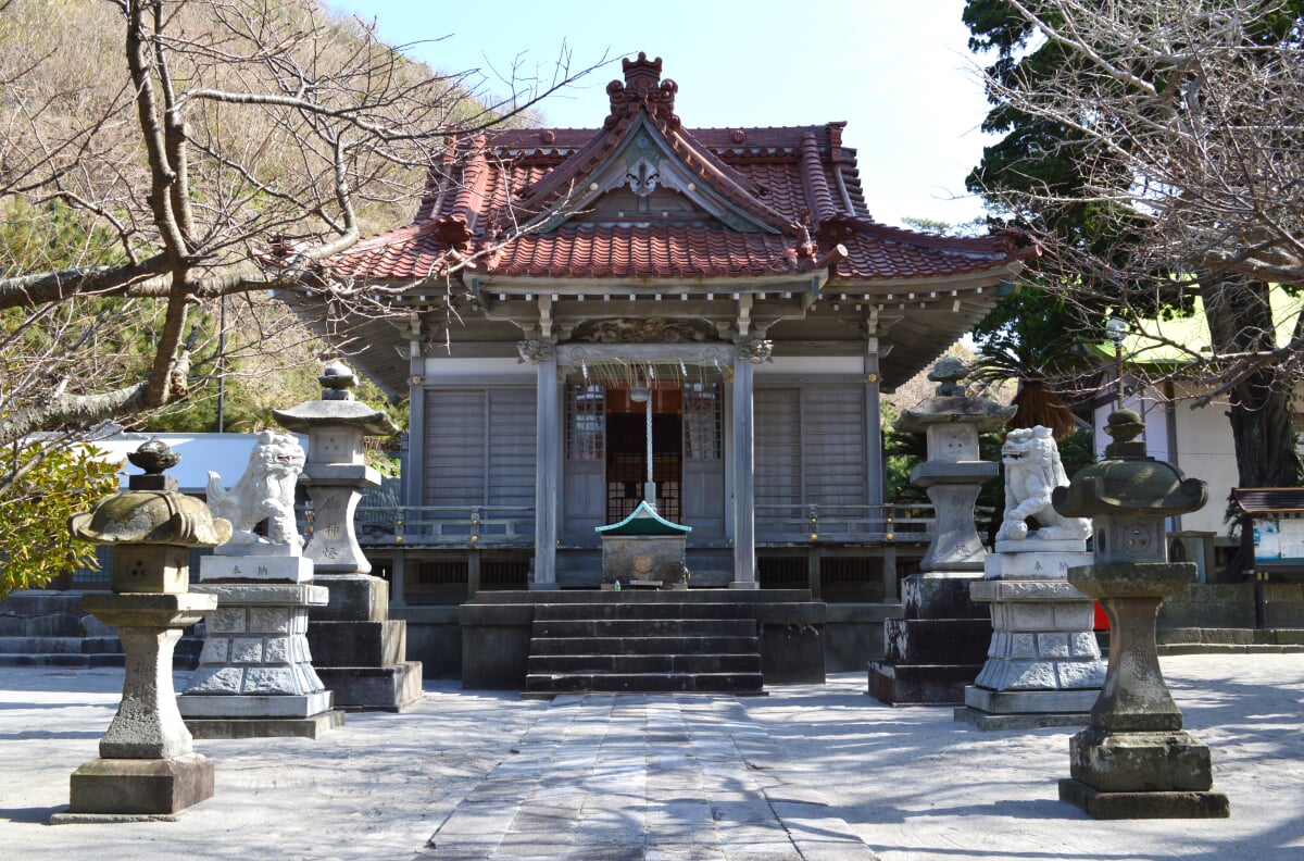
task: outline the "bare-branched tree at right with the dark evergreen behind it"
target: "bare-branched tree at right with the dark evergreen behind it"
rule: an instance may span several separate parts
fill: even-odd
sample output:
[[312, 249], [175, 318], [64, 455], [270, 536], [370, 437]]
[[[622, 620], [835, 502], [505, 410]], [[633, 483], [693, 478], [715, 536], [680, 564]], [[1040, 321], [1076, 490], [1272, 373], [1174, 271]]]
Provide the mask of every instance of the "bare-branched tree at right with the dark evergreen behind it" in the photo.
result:
[[[1304, 4], [1296, 0], [1007, 0], [1025, 51], [1063, 61], [988, 76], [998, 103], [1063, 129], [1055, 153], [1084, 177], [1072, 200], [1028, 184], [995, 193], [1035, 213], [1084, 201], [1125, 219], [1127, 243], [1038, 236], [1052, 287], [1132, 317], [1202, 299], [1211, 351], [1179, 373], [1198, 403], [1230, 403], [1241, 483], [1294, 484], [1290, 391], [1304, 317], [1269, 286], [1304, 284]], [[1042, 222], [1045, 223], [1045, 222]], [[1149, 333], [1157, 342], [1158, 333]]]

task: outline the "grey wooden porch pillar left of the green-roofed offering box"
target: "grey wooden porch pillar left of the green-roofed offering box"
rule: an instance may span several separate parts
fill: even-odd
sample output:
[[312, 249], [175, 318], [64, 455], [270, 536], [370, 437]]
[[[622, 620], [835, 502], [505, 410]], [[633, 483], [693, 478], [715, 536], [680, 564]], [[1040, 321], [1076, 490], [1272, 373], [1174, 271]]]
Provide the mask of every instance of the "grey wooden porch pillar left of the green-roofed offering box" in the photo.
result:
[[558, 445], [557, 348], [546, 340], [523, 342], [520, 355], [537, 368], [535, 386], [535, 571], [532, 590], [557, 588]]

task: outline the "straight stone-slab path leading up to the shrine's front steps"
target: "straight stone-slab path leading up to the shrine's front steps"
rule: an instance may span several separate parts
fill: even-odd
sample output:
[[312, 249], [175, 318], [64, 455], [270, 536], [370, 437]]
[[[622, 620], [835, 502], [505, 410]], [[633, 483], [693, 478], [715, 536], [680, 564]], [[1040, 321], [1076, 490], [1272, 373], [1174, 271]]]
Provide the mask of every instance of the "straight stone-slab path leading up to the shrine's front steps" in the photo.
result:
[[430, 838], [430, 860], [870, 861], [726, 697], [559, 697]]

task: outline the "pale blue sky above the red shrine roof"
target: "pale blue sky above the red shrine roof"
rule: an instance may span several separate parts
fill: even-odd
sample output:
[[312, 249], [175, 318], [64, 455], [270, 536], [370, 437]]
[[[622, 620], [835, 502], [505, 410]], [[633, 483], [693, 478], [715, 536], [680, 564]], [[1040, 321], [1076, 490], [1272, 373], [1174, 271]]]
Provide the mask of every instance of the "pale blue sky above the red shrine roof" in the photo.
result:
[[[558, 128], [595, 128], [619, 57], [662, 57], [679, 83], [675, 112], [689, 128], [819, 125], [846, 120], [875, 219], [965, 222], [982, 214], [965, 175], [990, 144], [978, 125], [987, 104], [970, 69], [964, 0], [329, 0], [376, 20], [382, 39], [442, 72], [494, 73], [514, 60], [550, 76], [565, 44], [574, 67], [614, 61], [540, 111]], [[956, 200], [958, 198], [958, 200]]]

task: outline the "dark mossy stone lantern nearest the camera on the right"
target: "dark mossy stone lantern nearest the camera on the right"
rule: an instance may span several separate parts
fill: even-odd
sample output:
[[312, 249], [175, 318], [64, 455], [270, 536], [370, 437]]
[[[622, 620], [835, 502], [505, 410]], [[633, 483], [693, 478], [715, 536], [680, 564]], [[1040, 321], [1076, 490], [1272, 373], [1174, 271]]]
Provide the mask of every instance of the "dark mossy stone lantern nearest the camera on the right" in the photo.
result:
[[1181, 711], [1159, 672], [1159, 605], [1196, 579], [1194, 562], [1170, 562], [1164, 518], [1202, 507], [1209, 488], [1146, 457], [1131, 410], [1110, 416], [1104, 461], [1055, 492], [1055, 509], [1094, 522], [1094, 564], [1068, 579], [1110, 617], [1110, 667], [1090, 724], [1069, 742], [1061, 801], [1098, 819], [1218, 818], [1209, 748], [1181, 729]]

